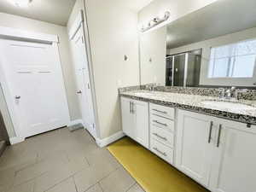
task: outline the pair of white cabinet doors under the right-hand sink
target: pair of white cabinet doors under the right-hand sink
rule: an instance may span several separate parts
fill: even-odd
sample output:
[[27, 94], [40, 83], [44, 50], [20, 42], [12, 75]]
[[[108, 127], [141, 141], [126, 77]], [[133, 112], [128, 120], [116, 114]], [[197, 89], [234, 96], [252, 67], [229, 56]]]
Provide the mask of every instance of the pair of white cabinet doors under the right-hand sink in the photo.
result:
[[212, 192], [256, 191], [256, 127], [177, 110], [176, 166]]

